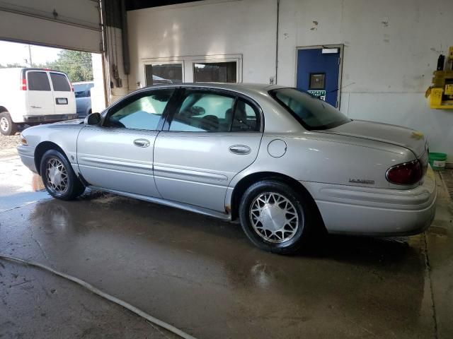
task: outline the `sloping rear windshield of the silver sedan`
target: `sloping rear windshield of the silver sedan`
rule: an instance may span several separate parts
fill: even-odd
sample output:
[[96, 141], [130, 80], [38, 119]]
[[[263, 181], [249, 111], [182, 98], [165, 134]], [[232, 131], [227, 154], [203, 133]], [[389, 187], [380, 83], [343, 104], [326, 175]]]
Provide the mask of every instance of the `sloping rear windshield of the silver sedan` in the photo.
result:
[[269, 94], [306, 129], [332, 129], [350, 121], [327, 102], [296, 88], [279, 88]]

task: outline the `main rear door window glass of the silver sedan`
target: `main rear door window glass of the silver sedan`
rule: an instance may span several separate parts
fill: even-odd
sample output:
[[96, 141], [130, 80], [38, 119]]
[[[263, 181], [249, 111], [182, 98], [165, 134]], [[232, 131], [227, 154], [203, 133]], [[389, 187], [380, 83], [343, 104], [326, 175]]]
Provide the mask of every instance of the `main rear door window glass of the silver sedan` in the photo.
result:
[[234, 97], [199, 91], [188, 92], [171, 121], [170, 131], [229, 131], [233, 105]]

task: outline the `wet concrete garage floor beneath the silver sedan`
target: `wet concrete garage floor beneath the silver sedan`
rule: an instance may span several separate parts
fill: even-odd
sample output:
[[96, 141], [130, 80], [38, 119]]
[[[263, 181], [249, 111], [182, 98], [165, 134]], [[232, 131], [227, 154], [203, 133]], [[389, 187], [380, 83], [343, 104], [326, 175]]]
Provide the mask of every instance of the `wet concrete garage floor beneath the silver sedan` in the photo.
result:
[[[3, 158], [1, 158], [3, 157]], [[99, 192], [49, 198], [0, 154], [0, 253], [45, 263], [196, 338], [452, 338], [452, 203], [389, 239], [329, 236], [300, 256], [239, 225]], [[0, 260], [0, 338], [174, 338], [45, 271]]]

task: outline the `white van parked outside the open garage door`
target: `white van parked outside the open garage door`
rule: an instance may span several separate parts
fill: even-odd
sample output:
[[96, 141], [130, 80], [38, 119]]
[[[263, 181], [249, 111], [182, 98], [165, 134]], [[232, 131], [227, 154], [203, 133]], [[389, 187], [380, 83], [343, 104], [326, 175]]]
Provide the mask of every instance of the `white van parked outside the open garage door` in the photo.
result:
[[65, 73], [49, 69], [0, 69], [0, 132], [18, 126], [77, 119], [74, 88]]

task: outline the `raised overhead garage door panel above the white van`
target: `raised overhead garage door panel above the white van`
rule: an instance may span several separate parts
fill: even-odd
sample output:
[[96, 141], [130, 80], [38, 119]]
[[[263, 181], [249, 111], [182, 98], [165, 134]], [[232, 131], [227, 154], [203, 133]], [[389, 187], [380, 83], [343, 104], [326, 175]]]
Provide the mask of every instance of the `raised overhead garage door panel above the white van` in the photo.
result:
[[96, 0], [0, 1], [0, 39], [101, 52]]

